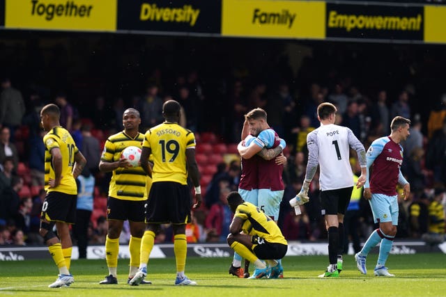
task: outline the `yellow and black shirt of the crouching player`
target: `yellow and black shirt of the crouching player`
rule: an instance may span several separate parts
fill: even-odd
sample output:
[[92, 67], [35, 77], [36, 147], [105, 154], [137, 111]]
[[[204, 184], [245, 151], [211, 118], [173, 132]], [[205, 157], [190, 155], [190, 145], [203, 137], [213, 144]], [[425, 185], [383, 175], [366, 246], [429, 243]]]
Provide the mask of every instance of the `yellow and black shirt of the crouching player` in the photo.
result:
[[270, 243], [288, 244], [275, 221], [254, 204], [243, 202], [234, 216], [244, 221], [242, 230], [245, 234], [259, 236]]

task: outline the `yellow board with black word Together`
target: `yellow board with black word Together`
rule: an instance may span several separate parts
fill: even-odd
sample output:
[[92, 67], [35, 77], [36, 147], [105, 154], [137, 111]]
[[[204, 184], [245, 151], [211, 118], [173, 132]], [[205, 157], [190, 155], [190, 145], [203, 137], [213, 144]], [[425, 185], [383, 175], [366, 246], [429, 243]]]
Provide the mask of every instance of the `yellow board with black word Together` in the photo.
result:
[[6, 0], [5, 28], [116, 31], [116, 0]]

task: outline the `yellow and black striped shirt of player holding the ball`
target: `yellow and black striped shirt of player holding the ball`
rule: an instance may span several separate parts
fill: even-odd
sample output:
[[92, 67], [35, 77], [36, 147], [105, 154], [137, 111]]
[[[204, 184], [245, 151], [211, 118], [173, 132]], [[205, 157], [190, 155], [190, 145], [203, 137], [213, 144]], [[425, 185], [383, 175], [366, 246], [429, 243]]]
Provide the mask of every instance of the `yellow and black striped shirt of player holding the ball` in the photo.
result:
[[[121, 152], [125, 147], [141, 147], [144, 134], [138, 133], [135, 138], [131, 138], [124, 131], [110, 136], [105, 142], [102, 151], [101, 161], [116, 162], [121, 159]], [[121, 200], [146, 200], [148, 177], [146, 172], [139, 167], [117, 168], [113, 170], [112, 179], [109, 185], [109, 196]]]

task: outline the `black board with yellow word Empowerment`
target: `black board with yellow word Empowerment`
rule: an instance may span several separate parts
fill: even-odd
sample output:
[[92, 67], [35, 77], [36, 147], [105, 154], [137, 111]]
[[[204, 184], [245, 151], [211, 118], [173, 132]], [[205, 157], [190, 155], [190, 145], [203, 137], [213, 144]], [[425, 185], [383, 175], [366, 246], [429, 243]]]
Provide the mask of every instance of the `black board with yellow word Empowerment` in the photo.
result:
[[414, 40], [424, 38], [422, 6], [327, 3], [327, 38]]

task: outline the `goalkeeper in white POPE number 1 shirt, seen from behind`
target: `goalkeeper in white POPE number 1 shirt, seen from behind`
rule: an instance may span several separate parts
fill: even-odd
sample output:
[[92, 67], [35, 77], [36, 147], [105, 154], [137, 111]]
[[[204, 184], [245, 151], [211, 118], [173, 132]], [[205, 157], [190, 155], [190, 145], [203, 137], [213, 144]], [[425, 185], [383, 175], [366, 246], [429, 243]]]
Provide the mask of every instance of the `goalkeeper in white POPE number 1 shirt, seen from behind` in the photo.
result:
[[353, 191], [353, 172], [350, 166], [350, 147], [357, 152], [361, 166], [361, 176], [357, 188], [364, 185], [366, 177], [366, 156], [364, 145], [356, 138], [351, 129], [334, 125], [336, 106], [324, 102], [319, 104], [317, 113], [321, 127], [307, 136], [308, 163], [302, 189], [290, 200], [296, 208], [309, 201], [308, 188], [320, 166], [319, 184], [321, 185], [321, 211], [328, 232], [328, 258], [330, 265], [320, 278], [337, 278], [342, 270], [342, 251], [344, 244], [344, 214]]

